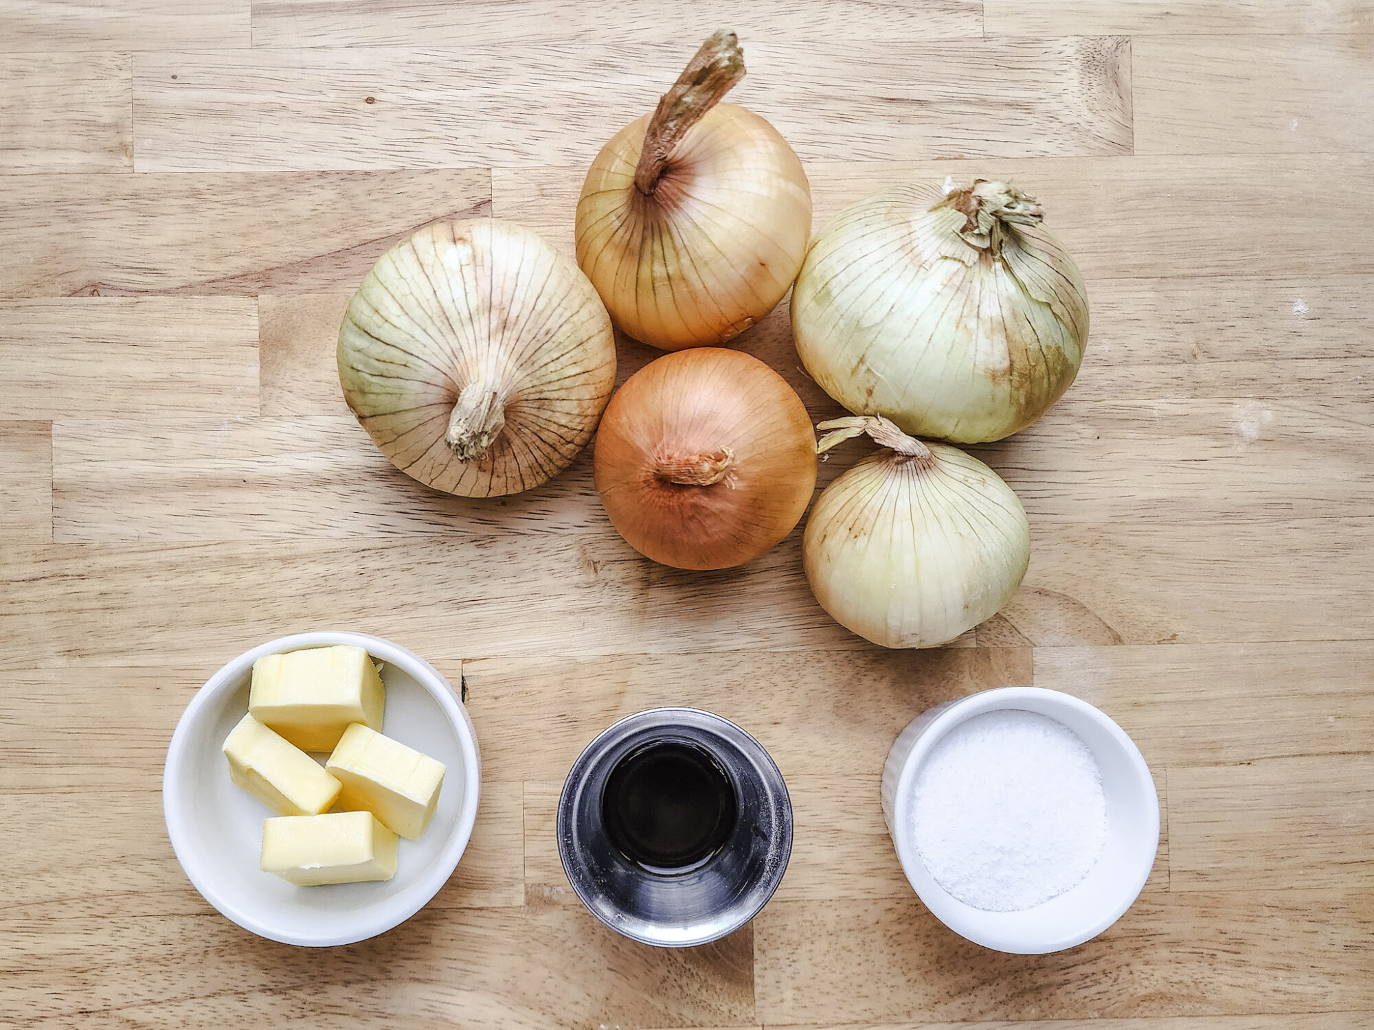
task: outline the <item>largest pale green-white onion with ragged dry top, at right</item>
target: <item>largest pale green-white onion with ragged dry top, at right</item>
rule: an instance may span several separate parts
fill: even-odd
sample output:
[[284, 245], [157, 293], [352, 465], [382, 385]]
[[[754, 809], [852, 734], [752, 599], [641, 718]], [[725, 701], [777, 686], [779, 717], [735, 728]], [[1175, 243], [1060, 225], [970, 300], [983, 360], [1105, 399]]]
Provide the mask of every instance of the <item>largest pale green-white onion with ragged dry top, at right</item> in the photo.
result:
[[816, 236], [791, 298], [797, 352], [856, 415], [973, 444], [1039, 419], [1088, 338], [1073, 258], [1006, 183], [897, 185]]

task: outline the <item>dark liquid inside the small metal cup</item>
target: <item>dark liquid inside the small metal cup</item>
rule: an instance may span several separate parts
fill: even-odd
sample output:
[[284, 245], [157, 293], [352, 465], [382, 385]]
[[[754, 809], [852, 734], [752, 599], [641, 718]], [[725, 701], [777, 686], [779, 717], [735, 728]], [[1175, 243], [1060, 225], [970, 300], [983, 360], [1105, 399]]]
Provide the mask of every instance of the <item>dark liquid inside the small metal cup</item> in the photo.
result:
[[646, 744], [620, 759], [602, 794], [610, 842], [653, 869], [699, 865], [730, 839], [738, 802], [730, 775], [691, 744]]

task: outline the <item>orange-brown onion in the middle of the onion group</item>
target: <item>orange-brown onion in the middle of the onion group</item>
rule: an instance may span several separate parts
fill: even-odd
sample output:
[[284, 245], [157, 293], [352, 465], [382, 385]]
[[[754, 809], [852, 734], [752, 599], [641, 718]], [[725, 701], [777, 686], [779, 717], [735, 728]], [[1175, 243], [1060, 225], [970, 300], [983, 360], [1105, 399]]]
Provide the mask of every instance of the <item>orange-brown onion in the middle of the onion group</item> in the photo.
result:
[[730, 569], [786, 537], [816, 486], [807, 407], [756, 357], [666, 354], [611, 398], [596, 434], [596, 490], [646, 558]]

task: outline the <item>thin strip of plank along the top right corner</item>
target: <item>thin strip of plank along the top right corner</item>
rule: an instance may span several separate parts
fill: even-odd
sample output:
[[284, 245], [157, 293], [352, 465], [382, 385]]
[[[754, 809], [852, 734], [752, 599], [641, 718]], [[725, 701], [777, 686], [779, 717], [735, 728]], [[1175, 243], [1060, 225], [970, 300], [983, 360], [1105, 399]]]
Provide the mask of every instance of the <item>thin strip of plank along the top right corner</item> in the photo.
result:
[[[286, 3], [287, 0], [283, 0]], [[1369, 0], [985, 0], [989, 36], [1197, 36], [1356, 33], [1374, 29]]]

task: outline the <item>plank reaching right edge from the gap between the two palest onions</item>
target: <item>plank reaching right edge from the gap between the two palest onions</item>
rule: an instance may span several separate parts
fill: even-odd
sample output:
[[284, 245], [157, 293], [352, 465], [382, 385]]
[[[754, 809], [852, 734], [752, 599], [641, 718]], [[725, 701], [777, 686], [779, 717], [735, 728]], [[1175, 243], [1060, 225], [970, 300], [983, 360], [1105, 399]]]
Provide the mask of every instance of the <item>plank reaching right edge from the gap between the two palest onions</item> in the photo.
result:
[[1079, 394], [1029, 430], [969, 449], [1037, 527], [1340, 518], [1374, 504], [1374, 404], [1364, 400]]

